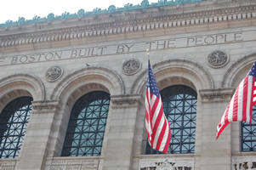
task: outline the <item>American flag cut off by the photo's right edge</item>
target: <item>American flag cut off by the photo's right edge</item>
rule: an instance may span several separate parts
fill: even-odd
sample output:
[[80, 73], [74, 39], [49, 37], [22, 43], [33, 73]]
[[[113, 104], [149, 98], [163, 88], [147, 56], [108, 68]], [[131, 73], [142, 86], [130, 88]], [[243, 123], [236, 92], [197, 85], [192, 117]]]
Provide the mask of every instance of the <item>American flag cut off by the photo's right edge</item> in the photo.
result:
[[256, 104], [256, 61], [247, 76], [240, 82], [217, 126], [217, 138], [230, 122], [242, 121], [251, 124], [253, 105]]

